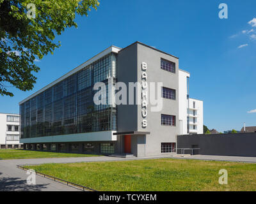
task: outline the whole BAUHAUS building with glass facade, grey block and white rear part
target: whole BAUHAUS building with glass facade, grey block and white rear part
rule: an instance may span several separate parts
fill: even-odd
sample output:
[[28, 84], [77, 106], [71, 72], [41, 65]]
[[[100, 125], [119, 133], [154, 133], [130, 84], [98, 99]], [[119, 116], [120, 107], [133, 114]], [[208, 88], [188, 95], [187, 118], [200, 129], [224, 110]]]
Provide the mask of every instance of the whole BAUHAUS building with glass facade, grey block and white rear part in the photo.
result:
[[[154, 47], [138, 41], [111, 46], [19, 103], [20, 142], [24, 149], [85, 154], [175, 152], [177, 135], [203, 131], [202, 101], [189, 98], [189, 77], [179, 69], [178, 57]], [[108, 102], [115, 101], [118, 82], [127, 89], [131, 82], [161, 82], [155, 93], [161, 108], [152, 111], [154, 104], [136, 103], [138, 97], [148, 100], [143, 87], [140, 94], [132, 87], [135, 94], [127, 94], [127, 103], [97, 104], [99, 82], [106, 85]]]

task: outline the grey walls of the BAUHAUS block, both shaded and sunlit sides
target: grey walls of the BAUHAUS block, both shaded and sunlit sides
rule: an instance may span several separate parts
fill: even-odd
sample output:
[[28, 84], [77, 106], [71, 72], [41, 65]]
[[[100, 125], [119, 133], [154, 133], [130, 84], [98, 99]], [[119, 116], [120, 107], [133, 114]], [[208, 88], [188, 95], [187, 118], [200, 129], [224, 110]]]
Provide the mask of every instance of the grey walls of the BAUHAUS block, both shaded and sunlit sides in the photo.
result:
[[[161, 69], [161, 58], [175, 62], [176, 73]], [[147, 62], [147, 82], [163, 82], [164, 87], [176, 90], [176, 100], [163, 98], [163, 110], [151, 112], [152, 107], [147, 107], [147, 128], [142, 128], [143, 117], [141, 105], [118, 105], [117, 126], [118, 132], [147, 131], [147, 136], [132, 136], [132, 153], [138, 156], [150, 156], [161, 154], [161, 143], [177, 142], [179, 134], [179, 59], [165, 54], [154, 48], [141, 43], [133, 43], [129, 47], [118, 52], [117, 57], [117, 80], [118, 82], [140, 82], [141, 64]], [[157, 95], [157, 93], [155, 93]], [[136, 94], [134, 94], [136, 95]], [[134, 96], [135, 99], [135, 96]], [[148, 96], [149, 99], [149, 96]], [[127, 103], [129, 98], [127, 97]], [[135, 101], [134, 101], [135, 102]], [[176, 126], [162, 126], [161, 114], [175, 115]], [[120, 149], [122, 149], [120, 143]]]

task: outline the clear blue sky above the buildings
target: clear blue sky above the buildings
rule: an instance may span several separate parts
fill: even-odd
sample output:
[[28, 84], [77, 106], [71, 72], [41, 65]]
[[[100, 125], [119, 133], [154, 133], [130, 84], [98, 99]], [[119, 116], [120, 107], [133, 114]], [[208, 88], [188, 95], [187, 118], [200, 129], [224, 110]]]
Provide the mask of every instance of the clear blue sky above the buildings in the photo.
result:
[[[218, 17], [220, 3], [228, 5], [228, 19]], [[56, 37], [54, 55], [36, 62], [33, 91], [11, 88], [13, 98], [0, 96], [0, 112], [19, 113], [19, 101], [110, 45], [141, 41], [179, 57], [191, 73], [191, 98], [204, 101], [208, 128], [256, 126], [256, 113], [248, 113], [256, 109], [256, 22], [248, 24], [255, 8], [255, 0], [102, 0], [97, 11], [77, 17], [77, 29]]]

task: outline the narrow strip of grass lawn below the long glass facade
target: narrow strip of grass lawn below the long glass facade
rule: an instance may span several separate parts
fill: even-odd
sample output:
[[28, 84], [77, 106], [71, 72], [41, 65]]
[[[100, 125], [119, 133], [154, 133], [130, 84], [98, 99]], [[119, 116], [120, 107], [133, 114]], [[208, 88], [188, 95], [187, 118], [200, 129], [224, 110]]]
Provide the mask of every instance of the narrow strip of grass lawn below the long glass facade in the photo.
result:
[[59, 152], [40, 152], [31, 150], [0, 149], [0, 159], [32, 159], [55, 157], [92, 157], [92, 154], [68, 154]]

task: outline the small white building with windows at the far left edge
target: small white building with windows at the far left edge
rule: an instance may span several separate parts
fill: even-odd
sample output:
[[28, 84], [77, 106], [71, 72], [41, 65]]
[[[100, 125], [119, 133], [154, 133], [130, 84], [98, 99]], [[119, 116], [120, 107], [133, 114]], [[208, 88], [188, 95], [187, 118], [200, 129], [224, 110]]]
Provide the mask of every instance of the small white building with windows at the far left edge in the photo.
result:
[[20, 115], [0, 113], [0, 149], [22, 148], [20, 143]]

